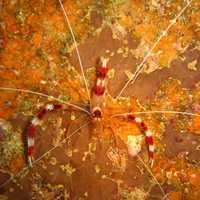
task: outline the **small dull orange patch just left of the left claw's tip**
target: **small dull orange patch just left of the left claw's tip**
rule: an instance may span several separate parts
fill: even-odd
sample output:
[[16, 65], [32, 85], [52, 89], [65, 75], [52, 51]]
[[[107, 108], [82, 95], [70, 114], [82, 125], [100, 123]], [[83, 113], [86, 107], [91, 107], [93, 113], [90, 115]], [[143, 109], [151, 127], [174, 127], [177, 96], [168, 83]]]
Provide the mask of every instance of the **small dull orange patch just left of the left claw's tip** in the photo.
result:
[[19, 172], [25, 165], [25, 161], [22, 155], [18, 155], [17, 157], [13, 158], [10, 162], [10, 171], [13, 174]]

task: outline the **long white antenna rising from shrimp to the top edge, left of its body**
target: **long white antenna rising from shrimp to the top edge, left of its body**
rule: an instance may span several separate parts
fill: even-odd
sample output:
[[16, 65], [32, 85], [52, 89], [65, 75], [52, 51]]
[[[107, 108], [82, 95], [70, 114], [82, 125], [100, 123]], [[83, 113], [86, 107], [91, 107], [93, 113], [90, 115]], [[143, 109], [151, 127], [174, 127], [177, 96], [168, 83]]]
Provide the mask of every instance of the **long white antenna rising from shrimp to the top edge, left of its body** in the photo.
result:
[[82, 64], [80, 52], [79, 52], [79, 49], [78, 49], [78, 45], [77, 45], [77, 42], [76, 42], [76, 38], [75, 38], [75, 35], [74, 35], [74, 31], [73, 31], [73, 29], [72, 29], [72, 27], [71, 27], [69, 18], [68, 18], [68, 16], [67, 16], [67, 12], [66, 12], [66, 10], [65, 10], [65, 7], [63, 6], [62, 1], [61, 1], [61, 0], [58, 0], [58, 1], [59, 1], [60, 6], [61, 6], [61, 8], [62, 8], [62, 10], [63, 10], [63, 14], [64, 14], [64, 17], [65, 17], [65, 20], [66, 20], [66, 22], [67, 22], [67, 24], [68, 24], [68, 27], [69, 27], [69, 30], [70, 30], [72, 39], [73, 39], [73, 41], [74, 41], [75, 50], [76, 50], [76, 54], [77, 54], [77, 57], [78, 57], [78, 61], [79, 61], [81, 73], [82, 73], [82, 76], [83, 76], [83, 80], [84, 80], [84, 83], [85, 83], [85, 88], [86, 88], [86, 91], [87, 91], [87, 94], [88, 94], [88, 98], [89, 98], [89, 101], [90, 101], [90, 92], [89, 92], [88, 84], [87, 84], [87, 81], [86, 81], [86, 78], [85, 78], [85, 73], [84, 73], [84, 70], [83, 70], [83, 64]]

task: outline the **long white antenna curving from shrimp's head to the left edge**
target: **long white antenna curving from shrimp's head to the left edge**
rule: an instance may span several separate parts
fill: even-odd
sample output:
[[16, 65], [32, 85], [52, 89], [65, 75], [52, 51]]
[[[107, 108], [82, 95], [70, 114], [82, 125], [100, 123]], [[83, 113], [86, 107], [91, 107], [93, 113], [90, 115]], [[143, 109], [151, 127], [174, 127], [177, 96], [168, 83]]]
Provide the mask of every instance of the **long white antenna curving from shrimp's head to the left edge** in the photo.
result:
[[66, 101], [63, 101], [61, 99], [58, 99], [56, 97], [53, 97], [53, 96], [50, 96], [50, 95], [47, 95], [47, 94], [44, 94], [44, 93], [34, 92], [32, 90], [26, 90], [26, 89], [20, 89], [20, 88], [9, 88], [9, 87], [0, 87], [0, 90], [11, 91], [11, 92], [23, 92], [23, 93], [29, 93], [29, 94], [34, 94], [34, 95], [42, 96], [42, 97], [45, 97], [45, 98], [49, 98], [49, 99], [55, 100], [55, 101], [60, 102], [62, 104], [66, 104], [68, 106], [74, 107], [74, 108], [76, 108], [76, 109], [78, 109], [80, 111], [83, 111], [83, 112], [87, 113], [88, 115], [90, 115], [90, 112], [87, 111], [84, 108], [81, 108], [81, 107], [79, 107], [79, 106], [77, 106], [75, 104], [68, 103]]

